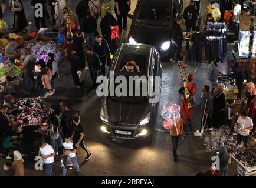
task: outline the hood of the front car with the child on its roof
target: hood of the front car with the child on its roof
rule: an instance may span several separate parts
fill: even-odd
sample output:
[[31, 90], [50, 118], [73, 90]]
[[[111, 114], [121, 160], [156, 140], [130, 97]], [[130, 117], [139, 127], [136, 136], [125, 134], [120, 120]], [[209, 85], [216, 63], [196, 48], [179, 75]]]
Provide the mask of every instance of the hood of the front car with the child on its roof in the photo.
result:
[[148, 102], [133, 104], [112, 102], [106, 103], [110, 122], [138, 124], [150, 110]]

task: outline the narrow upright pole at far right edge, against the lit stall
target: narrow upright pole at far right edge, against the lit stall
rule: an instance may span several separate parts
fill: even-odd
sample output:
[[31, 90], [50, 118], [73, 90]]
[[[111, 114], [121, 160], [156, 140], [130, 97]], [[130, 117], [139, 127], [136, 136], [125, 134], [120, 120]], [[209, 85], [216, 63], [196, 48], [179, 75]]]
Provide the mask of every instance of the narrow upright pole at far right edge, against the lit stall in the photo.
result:
[[255, 0], [251, 1], [251, 9], [252, 9], [252, 16], [250, 22], [250, 39], [249, 39], [249, 55], [248, 55], [248, 62], [247, 62], [247, 74], [248, 78], [252, 79], [254, 75], [252, 75], [252, 51], [253, 51], [253, 39], [254, 39], [254, 20], [255, 20]]

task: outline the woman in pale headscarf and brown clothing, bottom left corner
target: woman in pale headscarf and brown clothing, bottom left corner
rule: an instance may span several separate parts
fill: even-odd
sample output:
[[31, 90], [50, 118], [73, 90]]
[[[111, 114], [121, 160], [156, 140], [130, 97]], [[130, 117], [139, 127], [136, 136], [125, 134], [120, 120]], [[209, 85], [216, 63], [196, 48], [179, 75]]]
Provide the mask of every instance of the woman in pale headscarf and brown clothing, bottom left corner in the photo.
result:
[[24, 176], [23, 162], [24, 160], [22, 159], [21, 153], [19, 151], [14, 151], [14, 162], [12, 162], [14, 176]]

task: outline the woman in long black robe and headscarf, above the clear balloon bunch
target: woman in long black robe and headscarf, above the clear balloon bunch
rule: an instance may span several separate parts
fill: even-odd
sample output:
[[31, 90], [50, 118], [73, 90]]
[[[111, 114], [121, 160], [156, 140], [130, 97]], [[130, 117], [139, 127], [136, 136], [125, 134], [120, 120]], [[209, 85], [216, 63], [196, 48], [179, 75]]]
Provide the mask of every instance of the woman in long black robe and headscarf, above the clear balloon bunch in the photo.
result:
[[223, 86], [218, 85], [215, 94], [212, 96], [212, 127], [219, 128], [224, 125], [225, 95]]

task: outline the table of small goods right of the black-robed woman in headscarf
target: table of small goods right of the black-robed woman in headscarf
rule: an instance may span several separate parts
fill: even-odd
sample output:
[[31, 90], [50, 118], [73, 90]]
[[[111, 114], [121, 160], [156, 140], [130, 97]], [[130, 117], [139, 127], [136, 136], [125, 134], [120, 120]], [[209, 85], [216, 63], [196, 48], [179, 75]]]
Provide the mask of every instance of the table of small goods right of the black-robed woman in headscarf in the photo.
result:
[[225, 99], [234, 99], [237, 104], [241, 104], [239, 92], [235, 80], [230, 75], [221, 75], [218, 77], [218, 85], [224, 88]]

